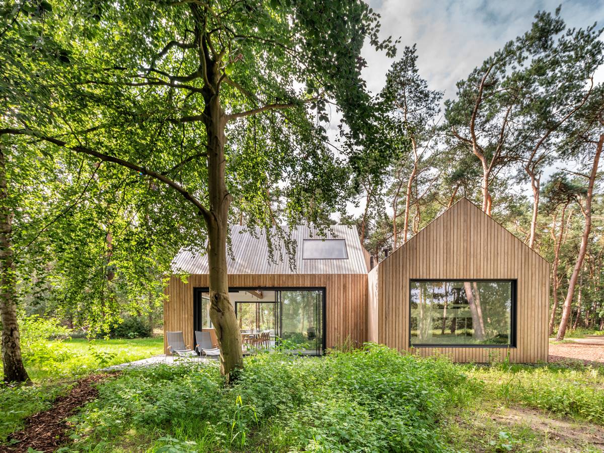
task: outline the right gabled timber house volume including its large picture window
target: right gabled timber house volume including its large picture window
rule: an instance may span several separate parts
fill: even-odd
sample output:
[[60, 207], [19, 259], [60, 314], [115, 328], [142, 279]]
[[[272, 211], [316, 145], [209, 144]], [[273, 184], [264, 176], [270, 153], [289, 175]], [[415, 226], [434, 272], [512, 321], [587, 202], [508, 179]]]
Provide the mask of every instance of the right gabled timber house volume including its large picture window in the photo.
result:
[[369, 272], [369, 341], [457, 362], [547, 362], [550, 265], [463, 198]]

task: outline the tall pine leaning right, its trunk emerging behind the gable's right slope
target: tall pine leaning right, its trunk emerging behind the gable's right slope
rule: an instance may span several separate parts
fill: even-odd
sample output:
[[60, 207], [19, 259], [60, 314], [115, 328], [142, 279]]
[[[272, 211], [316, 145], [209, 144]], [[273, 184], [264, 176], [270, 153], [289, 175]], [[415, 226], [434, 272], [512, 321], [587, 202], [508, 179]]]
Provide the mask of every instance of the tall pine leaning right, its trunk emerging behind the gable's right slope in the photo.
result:
[[[593, 76], [604, 59], [602, 30], [596, 25], [571, 29], [559, 17], [540, 12], [522, 42], [532, 49], [530, 64], [517, 77], [524, 79], [527, 93], [521, 100], [519, 140], [524, 145], [524, 172], [533, 191], [533, 210], [528, 245], [535, 248], [542, 169], [551, 163], [555, 143], [561, 140], [562, 126], [579, 112], [592, 93]], [[561, 35], [557, 38], [556, 36]], [[533, 50], [534, 49], [534, 50]]]

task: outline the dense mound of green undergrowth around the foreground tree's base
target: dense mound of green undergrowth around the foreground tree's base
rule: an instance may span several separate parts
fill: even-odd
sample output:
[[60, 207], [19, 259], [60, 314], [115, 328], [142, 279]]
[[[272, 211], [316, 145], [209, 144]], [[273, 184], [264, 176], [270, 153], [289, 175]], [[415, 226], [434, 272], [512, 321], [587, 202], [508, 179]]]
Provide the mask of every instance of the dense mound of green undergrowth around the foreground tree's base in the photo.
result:
[[231, 388], [213, 365], [158, 365], [102, 384], [66, 451], [444, 451], [442, 414], [467, 385], [444, 358], [376, 345], [247, 358]]

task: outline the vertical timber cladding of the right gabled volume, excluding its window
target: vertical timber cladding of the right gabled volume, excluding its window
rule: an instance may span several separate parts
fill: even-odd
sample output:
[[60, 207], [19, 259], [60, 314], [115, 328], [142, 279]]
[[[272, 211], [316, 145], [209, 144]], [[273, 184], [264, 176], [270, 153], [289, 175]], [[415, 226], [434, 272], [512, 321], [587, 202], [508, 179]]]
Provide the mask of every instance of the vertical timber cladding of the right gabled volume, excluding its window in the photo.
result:
[[516, 280], [516, 345], [417, 347], [457, 362], [547, 362], [550, 265], [525, 243], [461, 199], [382, 260], [368, 276], [368, 339], [410, 351], [410, 280]]

